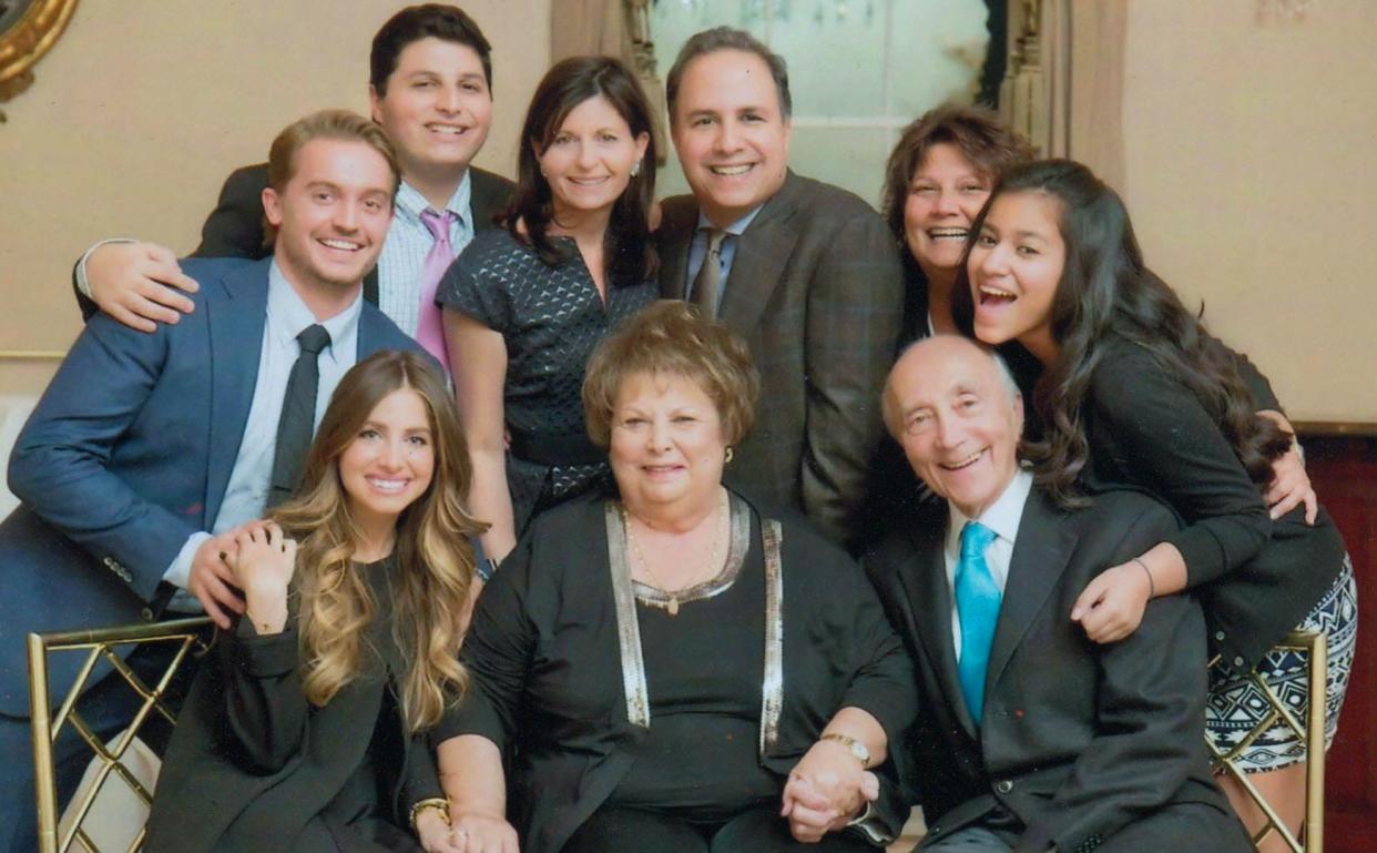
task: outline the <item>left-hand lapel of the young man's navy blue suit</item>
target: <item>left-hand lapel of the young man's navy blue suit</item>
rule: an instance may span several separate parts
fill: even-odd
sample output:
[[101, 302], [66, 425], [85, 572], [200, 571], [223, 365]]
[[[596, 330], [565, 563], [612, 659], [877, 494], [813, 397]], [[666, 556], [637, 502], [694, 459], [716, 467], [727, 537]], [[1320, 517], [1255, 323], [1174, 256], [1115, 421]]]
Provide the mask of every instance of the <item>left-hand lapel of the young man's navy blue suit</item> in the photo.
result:
[[205, 478], [205, 522], [215, 524], [240, 455], [253, 405], [263, 327], [267, 320], [267, 270], [271, 259], [235, 269], [205, 300], [211, 333], [211, 444]]

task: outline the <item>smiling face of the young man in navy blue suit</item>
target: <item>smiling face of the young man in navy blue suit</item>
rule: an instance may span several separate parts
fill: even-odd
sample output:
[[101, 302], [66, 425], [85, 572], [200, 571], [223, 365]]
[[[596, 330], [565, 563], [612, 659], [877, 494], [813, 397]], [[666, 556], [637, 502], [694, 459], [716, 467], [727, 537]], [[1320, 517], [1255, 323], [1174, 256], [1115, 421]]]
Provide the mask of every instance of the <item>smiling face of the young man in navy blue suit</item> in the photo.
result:
[[303, 145], [292, 165], [281, 193], [263, 190], [278, 267], [299, 291], [359, 287], [392, 220], [391, 167], [364, 142], [324, 136]]

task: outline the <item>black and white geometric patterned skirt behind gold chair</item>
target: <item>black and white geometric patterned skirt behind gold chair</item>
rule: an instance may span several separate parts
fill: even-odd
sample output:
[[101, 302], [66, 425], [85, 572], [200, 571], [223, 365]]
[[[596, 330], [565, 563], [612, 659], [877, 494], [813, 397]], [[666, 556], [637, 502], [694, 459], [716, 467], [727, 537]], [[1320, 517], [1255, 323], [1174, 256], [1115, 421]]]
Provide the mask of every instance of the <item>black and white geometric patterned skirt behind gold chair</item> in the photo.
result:
[[[1327, 750], [1338, 729], [1338, 711], [1348, 690], [1358, 638], [1358, 587], [1354, 583], [1354, 564], [1347, 555], [1344, 571], [1297, 630], [1322, 631], [1329, 641], [1329, 678], [1325, 685]], [[1307, 659], [1305, 652], [1274, 649], [1257, 663], [1256, 670], [1301, 725], [1305, 725], [1305, 715], [1310, 712]], [[1217, 750], [1227, 751], [1241, 743], [1267, 717], [1270, 708], [1267, 696], [1246, 675], [1226, 675], [1219, 668], [1210, 670], [1205, 730]], [[1245, 773], [1261, 773], [1304, 759], [1304, 744], [1290, 726], [1278, 721], [1238, 757], [1235, 765]]]

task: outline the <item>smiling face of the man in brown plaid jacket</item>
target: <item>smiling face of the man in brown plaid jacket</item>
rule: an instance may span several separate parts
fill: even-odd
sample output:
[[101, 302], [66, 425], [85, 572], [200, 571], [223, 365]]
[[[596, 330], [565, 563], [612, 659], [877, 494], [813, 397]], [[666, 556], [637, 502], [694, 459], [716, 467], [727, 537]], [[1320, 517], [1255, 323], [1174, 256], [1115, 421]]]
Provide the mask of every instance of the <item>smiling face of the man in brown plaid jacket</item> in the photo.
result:
[[728, 48], [690, 62], [672, 121], [684, 179], [715, 226], [741, 219], [784, 186], [789, 123], [760, 56]]

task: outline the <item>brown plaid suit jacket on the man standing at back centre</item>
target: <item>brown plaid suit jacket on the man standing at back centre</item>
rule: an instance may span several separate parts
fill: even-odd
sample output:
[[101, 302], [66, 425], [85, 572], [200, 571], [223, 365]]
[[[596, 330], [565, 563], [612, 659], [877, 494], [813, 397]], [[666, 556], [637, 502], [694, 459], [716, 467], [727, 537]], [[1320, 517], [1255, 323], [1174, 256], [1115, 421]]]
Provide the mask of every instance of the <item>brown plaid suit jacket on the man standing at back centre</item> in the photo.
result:
[[[665, 200], [655, 240], [666, 299], [687, 294], [697, 226], [693, 196]], [[750, 345], [761, 380], [727, 482], [801, 510], [833, 542], [856, 540], [902, 314], [884, 220], [856, 196], [790, 172], [739, 237], [723, 292], [720, 317]]]

